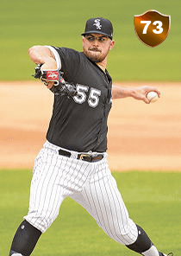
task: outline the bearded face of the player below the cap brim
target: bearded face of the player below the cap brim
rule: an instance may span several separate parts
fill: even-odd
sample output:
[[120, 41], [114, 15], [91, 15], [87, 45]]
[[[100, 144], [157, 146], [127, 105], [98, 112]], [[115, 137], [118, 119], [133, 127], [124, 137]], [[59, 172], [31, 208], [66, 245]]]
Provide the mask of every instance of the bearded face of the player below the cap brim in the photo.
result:
[[102, 62], [109, 50], [114, 47], [115, 42], [111, 41], [108, 36], [101, 34], [89, 34], [83, 37], [84, 54], [94, 62]]

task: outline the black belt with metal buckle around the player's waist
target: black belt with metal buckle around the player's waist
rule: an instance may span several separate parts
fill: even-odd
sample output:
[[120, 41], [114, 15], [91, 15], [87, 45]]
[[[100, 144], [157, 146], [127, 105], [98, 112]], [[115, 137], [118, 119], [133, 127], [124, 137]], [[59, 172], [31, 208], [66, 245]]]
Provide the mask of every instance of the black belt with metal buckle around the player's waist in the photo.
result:
[[[71, 157], [71, 152], [66, 150], [59, 150], [59, 155], [64, 157]], [[77, 159], [86, 161], [86, 162], [97, 162], [103, 159], [103, 154], [97, 154], [97, 155], [89, 155], [89, 154], [78, 154]]]

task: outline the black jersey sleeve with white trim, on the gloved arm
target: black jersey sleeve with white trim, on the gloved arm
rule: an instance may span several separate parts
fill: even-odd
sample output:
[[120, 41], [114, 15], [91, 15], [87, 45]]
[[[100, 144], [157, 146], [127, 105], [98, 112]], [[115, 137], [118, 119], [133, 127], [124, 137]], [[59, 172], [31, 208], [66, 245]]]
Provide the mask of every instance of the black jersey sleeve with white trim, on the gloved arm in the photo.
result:
[[52, 51], [57, 62], [57, 69], [63, 72], [64, 79], [72, 81], [78, 72], [80, 53], [71, 48], [46, 47]]

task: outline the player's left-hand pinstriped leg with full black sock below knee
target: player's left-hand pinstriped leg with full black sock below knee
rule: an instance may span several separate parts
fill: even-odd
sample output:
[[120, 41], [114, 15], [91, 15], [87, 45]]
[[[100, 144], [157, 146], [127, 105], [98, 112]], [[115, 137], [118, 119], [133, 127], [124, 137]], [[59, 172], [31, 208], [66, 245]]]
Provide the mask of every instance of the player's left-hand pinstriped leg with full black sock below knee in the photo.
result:
[[[56, 157], [55, 157], [56, 158]], [[59, 214], [59, 207], [65, 196], [59, 181], [61, 171], [56, 166], [59, 161], [53, 155], [42, 152], [35, 159], [34, 176], [31, 182], [29, 212], [18, 227], [9, 255], [29, 256], [42, 233]], [[54, 161], [54, 164], [52, 163]], [[60, 161], [59, 167], [65, 163]]]

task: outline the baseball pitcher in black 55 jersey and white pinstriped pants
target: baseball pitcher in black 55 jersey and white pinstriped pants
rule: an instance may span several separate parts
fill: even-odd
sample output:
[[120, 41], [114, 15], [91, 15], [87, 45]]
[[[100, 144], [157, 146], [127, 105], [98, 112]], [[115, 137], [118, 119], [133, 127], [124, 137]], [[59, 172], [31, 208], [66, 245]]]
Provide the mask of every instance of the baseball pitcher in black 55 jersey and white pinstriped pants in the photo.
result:
[[9, 255], [30, 255], [70, 196], [113, 240], [145, 256], [165, 256], [130, 219], [106, 153], [112, 99], [133, 97], [149, 103], [148, 92], [160, 93], [153, 86], [112, 86], [106, 69], [109, 50], [115, 45], [109, 20], [90, 18], [82, 35], [83, 52], [53, 46], [29, 49], [37, 65], [34, 77], [54, 93], [53, 115], [47, 141], [35, 159], [28, 214]]

